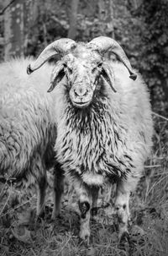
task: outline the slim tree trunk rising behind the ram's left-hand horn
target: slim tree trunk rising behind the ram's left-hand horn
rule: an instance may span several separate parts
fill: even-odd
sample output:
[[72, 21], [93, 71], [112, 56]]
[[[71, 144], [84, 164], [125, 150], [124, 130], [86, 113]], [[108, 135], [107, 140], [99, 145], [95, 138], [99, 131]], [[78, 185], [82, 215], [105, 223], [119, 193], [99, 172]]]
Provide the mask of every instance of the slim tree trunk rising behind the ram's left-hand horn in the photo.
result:
[[68, 31], [68, 38], [76, 39], [76, 19], [77, 8], [79, 0], [71, 0], [71, 14], [70, 14], [70, 29]]

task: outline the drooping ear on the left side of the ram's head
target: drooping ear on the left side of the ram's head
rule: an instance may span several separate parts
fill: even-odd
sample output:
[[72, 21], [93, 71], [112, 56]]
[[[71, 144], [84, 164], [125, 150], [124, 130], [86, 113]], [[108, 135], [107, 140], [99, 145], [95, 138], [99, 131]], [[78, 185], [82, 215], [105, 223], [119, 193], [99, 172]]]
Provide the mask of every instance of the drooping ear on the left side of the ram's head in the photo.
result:
[[50, 79], [50, 88], [47, 90], [47, 92], [51, 92], [52, 90], [55, 89], [55, 86], [60, 83], [61, 79], [65, 76], [65, 71], [64, 71], [64, 65], [58, 64], [56, 67], [53, 69], [53, 72], [51, 74], [51, 79]]

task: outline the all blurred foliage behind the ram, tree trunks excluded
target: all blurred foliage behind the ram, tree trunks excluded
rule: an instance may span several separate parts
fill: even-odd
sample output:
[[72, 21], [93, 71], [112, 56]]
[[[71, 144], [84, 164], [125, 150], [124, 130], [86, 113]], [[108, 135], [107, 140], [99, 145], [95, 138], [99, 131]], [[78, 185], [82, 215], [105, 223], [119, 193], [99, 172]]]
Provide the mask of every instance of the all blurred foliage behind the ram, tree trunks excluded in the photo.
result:
[[[42, 0], [40, 0], [42, 1]], [[37, 56], [44, 47], [68, 35], [71, 4], [48, 1], [39, 5], [34, 25], [28, 31], [25, 55]], [[81, 2], [76, 20], [76, 40], [90, 41], [98, 35], [114, 35], [130, 62], [143, 75], [150, 88], [155, 112], [166, 116], [168, 110], [168, 2], [167, 0], [113, 0], [113, 25], [103, 25], [97, 1]]]

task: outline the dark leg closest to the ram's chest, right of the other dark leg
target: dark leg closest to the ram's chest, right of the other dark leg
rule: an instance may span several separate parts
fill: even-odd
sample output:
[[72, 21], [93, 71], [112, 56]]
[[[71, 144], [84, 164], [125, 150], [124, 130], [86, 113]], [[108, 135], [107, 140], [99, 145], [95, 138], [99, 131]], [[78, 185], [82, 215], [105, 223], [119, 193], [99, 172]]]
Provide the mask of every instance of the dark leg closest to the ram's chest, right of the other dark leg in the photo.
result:
[[64, 172], [61, 170], [60, 165], [55, 165], [54, 170], [54, 208], [52, 212], [52, 220], [55, 220], [60, 215], [61, 196], [64, 192]]

